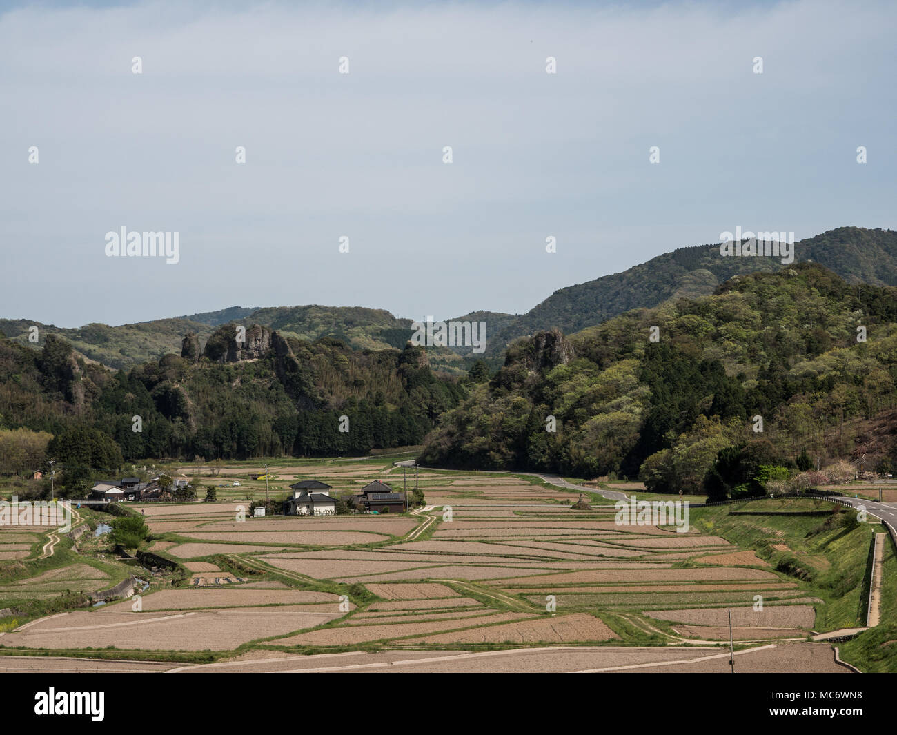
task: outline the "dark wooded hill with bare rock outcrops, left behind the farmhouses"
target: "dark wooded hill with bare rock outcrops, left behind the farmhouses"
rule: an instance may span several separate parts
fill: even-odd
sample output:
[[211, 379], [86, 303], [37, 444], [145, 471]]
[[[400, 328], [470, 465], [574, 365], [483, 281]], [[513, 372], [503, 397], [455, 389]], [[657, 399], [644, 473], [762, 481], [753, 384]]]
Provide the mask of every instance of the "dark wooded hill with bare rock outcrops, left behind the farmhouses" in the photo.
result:
[[111, 472], [110, 456], [320, 456], [420, 443], [463, 396], [419, 347], [353, 350], [261, 326], [248, 329], [245, 343], [236, 337], [224, 325], [205, 349], [191, 335], [182, 356], [118, 372], [85, 362], [61, 337], [40, 349], [0, 337], [0, 429], [52, 433], [67, 447], [81, 442], [66, 442], [67, 434], [99, 432], [118, 448], [107, 451], [104, 439], [98, 462], [84, 439], [79, 462]]

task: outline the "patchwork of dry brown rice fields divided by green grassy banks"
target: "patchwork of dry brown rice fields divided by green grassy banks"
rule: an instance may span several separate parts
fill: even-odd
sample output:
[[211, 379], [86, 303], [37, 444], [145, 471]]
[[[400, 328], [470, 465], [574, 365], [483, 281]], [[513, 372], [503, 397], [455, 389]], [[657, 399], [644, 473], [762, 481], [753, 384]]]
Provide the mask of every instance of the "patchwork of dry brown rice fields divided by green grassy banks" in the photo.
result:
[[[251, 469], [224, 468], [222, 477], [230, 482]], [[377, 460], [319, 469], [301, 464], [274, 474], [280, 486], [320, 478], [335, 491], [357, 492], [378, 477], [396, 489], [402, 482], [401, 468]], [[459, 661], [459, 652], [570, 646], [582, 651], [569, 660], [580, 669], [625, 669], [627, 661], [637, 669], [649, 661], [670, 670], [716, 670], [714, 656], [722, 649], [715, 646], [727, 642], [729, 606], [737, 640], [779, 642], [776, 655], [752, 654], [753, 662], [767, 661], [753, 663], [757, 670], [788, 669], [782, 661], [832, 669], [830, 646], [786, 643], [808, 639], [816, 600], [752, 549], [693, 529], [619, 526], [612, 503], [595, 499], [592, 510], [573, 511], [579, 493], [535, 480], [422, 471], [419, 482], [431, 507], [392, 516], [239, 520], [248, 502], [232, 498], [243, 488], [227, 488], [221, 503], [138, 505], [161, 537], [152, 552], [182, 564], [187, 586], [153, 582], [141, 592], [140, 608], [125, 599], [39, 617], [4, 629], [0, 646], [209, 651], [221, 653], [222, 661], [239, 648], [234, 662], [260, 667], [300, 653], [309, 661], [315, 658], [309, 653], [349, 655], [343, 652], [353, 647], [368, 651], [360, 656], [401, 649], [408, 661], [421, 661], [413, 670], [442, 670], [435, 659], [427, 662], [429, 652]], [[0, 558], [27, 556], [41, 538], [22, 529], [0, 533]], [[120, 579], [71, 564], [0, 586], [0, 600], [20, 588], [39, 596], [96, 590]], [[757, 594], [767, 604], [755, 612]], [[619, 646], [640, 643], [633, 635], [649, 637], [654, 648]], [[667, 655], [665, 644], [675, 652]], [[686, 653], [697, 645], [710, 652], [706, 662], [706, 654]], [[600, 653], [589, 658], [586, 651]], [[499, 658], [490, 661], [498, 665]], [[467, 665], [477, 670], [473, 659]]]

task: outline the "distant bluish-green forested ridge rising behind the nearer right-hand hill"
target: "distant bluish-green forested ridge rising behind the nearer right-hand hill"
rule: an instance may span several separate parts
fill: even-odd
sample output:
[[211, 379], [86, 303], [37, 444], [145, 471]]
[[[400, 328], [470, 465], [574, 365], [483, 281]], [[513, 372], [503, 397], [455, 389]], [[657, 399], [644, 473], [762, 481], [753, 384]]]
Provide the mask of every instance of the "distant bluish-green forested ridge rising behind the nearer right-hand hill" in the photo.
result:
[[[848, 283], [897, 285], [897, 232], [840, 227], [795, 243], [796, 260], [820, 263]], [[678, 248], [623, 273], [555, 291], [518, 319], [492, 330], [489, 351], [516, 337], [559, 328], [579, 331], [631, 309], [650, 308], [669, 298], [713, 293], [732, 276], [775, 272], [780, 258], [723, 258], [719, 245]]]

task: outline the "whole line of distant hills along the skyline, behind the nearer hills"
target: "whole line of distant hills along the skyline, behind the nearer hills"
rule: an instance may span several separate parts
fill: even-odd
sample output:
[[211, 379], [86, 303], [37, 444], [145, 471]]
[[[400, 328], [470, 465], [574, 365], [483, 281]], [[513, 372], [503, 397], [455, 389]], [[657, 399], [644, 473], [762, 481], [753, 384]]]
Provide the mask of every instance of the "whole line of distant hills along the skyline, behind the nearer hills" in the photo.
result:
[[[849, 283], [897, 285], [897, 232], [841, 227], [796, 243], [796, 253], [798, 261], [821, 263]], [[570, 334], [624, 311], [654, 307], [670, 298], [713, 293], [718, 284], [732, 276], [775, 272], [782, 267], [779, 258], [723, 258], [718, 245], [679, 248], [623, 273], [562, 288], [523, 315], [475, 311], [456, 319], [486, 323], [486, 353], [494, 364], [500, 363], [505, 347], [518, 337], [551, 328]], [[424, 315], [415, 317], [423, 318]], [[158, 360], [163, 354], [178, 354], [180, 339], [187, 332], [194, 332], [205, 342], [215, 328], [229, 322], [247, 327], [261, 324], [283, 336], [311, 341], [333, 337], [355, 349], [380, 350], [405, 346], [412, 334], [412, 321], [382, 309], [362, 307], [233, 306], [119, 327], [89, 324], [82, 328], [57, 328], [28, 319], [0, 319], [0, 333], [32, 346], [30, 328], [37, 327], [38, 346], [44, 344], [47, 335], [57, 334], [85, 357], [112, 368], [127, 369]], [[459, 375], [478, 356], [470, 353], [469, 347], [435, 347], [429, 351], [429, 358], [434, 368]]]

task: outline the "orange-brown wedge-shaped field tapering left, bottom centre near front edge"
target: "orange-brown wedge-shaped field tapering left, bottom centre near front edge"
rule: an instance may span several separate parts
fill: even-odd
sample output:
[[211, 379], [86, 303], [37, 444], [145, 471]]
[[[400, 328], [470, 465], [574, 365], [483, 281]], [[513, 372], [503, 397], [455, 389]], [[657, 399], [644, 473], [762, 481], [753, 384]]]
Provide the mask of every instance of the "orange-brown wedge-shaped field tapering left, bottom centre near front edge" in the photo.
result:
[[619, 638], [597, 617], [578, 613], [428, 635], [403, 643], [596, 643]]

